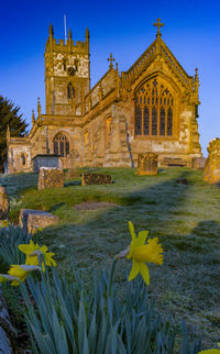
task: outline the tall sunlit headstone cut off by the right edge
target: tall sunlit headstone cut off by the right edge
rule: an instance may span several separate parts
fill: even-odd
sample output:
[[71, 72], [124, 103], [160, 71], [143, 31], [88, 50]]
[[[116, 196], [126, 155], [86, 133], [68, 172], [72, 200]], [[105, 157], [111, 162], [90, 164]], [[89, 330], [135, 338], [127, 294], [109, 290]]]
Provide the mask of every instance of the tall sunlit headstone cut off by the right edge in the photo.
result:
[[204, 181], [220, 184], [220, 139], [211, 140], [207, 150], [209, 156], [204, 168]]

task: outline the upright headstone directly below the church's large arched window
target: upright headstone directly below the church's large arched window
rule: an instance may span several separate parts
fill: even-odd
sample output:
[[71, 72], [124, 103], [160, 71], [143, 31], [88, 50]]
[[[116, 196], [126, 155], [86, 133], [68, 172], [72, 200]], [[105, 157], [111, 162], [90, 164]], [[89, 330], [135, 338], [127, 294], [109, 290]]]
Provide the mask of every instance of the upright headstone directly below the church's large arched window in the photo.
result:
[[139, 154], [138, 175], [157, 175], [157, 157], [154, 153]]

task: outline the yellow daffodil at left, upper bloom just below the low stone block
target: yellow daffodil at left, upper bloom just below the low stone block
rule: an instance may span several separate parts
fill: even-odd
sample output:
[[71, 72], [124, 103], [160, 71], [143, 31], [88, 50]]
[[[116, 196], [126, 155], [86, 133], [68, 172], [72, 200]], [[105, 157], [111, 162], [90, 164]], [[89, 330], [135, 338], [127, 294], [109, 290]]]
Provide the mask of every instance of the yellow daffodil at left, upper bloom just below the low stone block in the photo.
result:
[[[34, 244], [30, 241], [30, 244], [20, 244], [19, 250], [26, 255], [25, 264], [28, 265], [38, 265], [38, 255], [44, 256], [45, 264], [47, 266], [56, 266], [56, 262], [52, 258], [54, 253], [48, 252], [47, 246], [40, 246], [37, 243]], [[42, 269], [45, 272], [44, 262], [42, 259]]]

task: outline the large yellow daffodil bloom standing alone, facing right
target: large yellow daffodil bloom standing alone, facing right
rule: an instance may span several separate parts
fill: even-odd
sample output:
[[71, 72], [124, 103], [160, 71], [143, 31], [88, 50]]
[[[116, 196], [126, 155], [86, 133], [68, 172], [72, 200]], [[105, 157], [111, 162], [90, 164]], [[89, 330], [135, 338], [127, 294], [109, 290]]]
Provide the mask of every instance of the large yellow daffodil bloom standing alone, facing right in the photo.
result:
[[163, 248], [158, 239], [150, 239], [145, 244], [148, 231], [140, 231], [136, 237], [134, 226], [129, 221], [129, 229], [132, 237], [130, 246], [122, 251], [117, 257], [127, 257], [133, 261], [129, 280], [133, 280], [141, 273], [146, 285], [150, 284], [150, 274], [146, 263], [163, 264]]

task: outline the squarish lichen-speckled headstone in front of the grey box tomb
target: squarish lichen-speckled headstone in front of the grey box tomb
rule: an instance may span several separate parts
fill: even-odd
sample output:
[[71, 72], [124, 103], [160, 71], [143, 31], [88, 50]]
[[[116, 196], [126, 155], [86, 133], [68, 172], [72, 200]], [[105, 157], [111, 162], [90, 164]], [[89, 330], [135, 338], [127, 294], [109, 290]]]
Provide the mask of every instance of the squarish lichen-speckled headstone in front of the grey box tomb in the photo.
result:
[[61, 168], [41, 167], [38, 173], [38, 189], [64, 187], [64, 172]]

